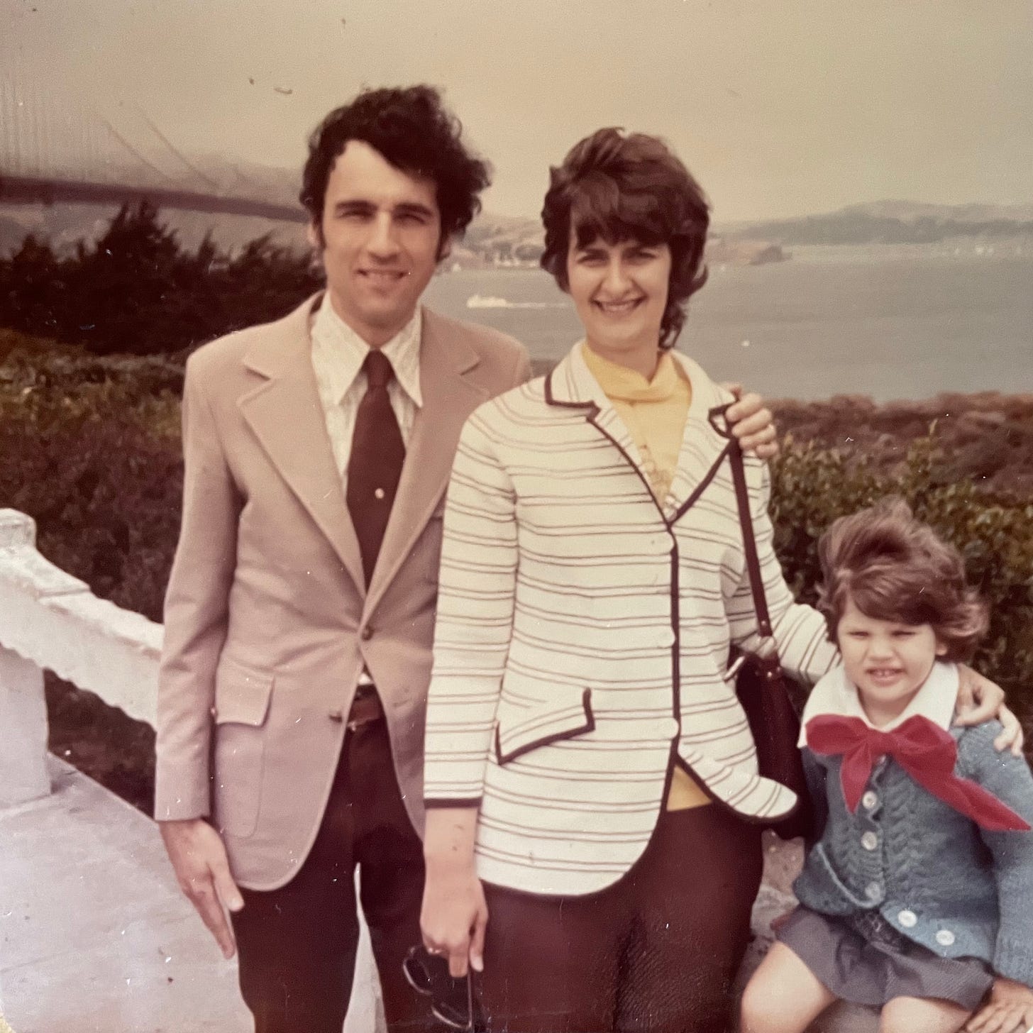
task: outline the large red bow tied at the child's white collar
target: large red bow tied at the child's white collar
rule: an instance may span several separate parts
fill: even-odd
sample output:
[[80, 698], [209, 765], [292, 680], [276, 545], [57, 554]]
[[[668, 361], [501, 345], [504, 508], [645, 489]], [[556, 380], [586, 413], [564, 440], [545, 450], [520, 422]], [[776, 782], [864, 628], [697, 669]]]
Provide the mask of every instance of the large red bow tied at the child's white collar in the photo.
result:
[[954, 775], [958, 745], [950, 732], [918, 715], [893, 731], [869, 727], [859, 717], [820, 714], [807, 722], [807, 745], [815, 753], [842, 754], [840, 780], [852, 814], [875, 761], [887, 754], [934, 796], [990, 832], [1027, 832], [1029, 823], [993, 793]]

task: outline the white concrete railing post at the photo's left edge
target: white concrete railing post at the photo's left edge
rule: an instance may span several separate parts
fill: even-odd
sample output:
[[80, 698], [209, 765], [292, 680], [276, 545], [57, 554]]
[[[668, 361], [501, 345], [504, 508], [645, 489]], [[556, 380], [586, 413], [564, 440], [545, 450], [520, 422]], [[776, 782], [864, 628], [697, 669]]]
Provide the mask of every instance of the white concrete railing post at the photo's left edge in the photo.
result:
[[[0, 550], [32, 547], [36, 527], [24, 513], [0, 512]], [[51, 791], [46, 774], [46, 702], [43, 672], [2, 645], [0, 625], [0, 807]]]

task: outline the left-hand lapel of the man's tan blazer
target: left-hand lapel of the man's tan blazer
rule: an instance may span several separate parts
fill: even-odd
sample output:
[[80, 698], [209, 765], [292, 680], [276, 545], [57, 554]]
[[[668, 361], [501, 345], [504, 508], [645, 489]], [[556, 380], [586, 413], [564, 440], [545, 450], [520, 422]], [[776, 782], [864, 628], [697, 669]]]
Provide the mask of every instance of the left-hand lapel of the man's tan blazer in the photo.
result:
[[245, 365], [268, 379], [238, 404], [270, 461], [364, 596], [358, 539], [344, 501], [312, 369], [309, 319], [313, 309], [310, 299], [281, 320], [281, 334], [263, 338], [247, 353]]

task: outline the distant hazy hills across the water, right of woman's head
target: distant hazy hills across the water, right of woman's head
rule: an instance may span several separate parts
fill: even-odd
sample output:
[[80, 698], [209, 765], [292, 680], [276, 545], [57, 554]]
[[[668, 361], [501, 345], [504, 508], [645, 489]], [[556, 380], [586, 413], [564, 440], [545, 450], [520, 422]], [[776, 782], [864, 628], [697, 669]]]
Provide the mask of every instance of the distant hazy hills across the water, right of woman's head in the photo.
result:
[[729, 240], [761, 239], [785, 245], [934, 244], [960, 237], [1033, 236], [1033, 205], [927, 205], [881, 200], [795, 219], [734, 223]]

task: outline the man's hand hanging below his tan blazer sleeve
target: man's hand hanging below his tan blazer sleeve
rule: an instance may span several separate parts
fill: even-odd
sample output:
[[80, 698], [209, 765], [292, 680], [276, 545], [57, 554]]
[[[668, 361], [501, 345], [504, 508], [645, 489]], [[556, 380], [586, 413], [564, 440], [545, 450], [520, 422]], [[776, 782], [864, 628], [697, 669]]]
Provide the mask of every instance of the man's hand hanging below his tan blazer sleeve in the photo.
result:
[[232, 958], [237, 943], [225, 908], [240, 911], [244, 898], [229, 874], [222, 838], [204, 818], [159, 821], [158, 827], [180, 888], [197, 909], [223, 957]]

